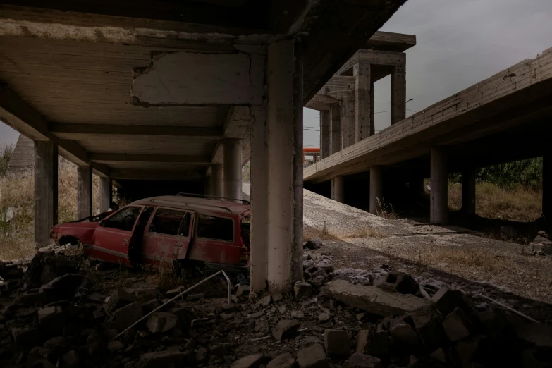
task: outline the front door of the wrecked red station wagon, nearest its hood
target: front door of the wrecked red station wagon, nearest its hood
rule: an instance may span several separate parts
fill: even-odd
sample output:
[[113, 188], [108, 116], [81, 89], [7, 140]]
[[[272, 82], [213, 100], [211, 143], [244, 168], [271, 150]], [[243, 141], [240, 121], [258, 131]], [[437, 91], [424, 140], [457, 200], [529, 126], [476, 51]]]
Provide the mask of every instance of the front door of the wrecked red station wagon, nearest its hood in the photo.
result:
[[130, 266], [128, 245], [142, 206], [127, 206], [102, 220], [94, 231], [92, 258]]

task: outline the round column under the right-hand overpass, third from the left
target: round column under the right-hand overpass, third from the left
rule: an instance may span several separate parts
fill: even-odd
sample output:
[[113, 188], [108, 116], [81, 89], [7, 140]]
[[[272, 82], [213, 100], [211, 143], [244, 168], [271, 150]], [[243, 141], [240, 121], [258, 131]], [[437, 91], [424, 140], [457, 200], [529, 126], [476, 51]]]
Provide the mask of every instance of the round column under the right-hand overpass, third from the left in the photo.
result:
[[448, 169], [446, 149], [431, 147], [430, 221], [446, 225], [448, 219]]

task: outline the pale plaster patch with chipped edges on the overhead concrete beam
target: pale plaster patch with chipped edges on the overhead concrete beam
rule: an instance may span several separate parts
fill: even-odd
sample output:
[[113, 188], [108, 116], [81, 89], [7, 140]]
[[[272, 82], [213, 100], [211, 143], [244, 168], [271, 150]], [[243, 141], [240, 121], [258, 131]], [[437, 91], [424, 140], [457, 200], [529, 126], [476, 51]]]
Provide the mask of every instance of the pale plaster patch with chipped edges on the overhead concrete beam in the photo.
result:
[[134, 70], [131, 97], [137, 105], [260, 105], [264, 57], [180, 51], [154, 56]]

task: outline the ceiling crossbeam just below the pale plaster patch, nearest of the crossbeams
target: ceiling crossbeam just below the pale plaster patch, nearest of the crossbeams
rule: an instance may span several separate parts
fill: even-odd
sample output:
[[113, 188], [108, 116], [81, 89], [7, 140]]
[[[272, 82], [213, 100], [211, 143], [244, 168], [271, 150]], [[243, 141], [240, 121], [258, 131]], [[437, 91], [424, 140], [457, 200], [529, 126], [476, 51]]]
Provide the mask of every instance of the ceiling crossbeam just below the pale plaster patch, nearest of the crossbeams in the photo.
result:
[[213, 139], [222, 139], [224, 136], [222, 128], [195, 126], [49, 123], [49, 131], [64, 139], [71, 139], [71, 135], [82, 137], [83, 134], [177, 135], [179, 137], [212, 137]]

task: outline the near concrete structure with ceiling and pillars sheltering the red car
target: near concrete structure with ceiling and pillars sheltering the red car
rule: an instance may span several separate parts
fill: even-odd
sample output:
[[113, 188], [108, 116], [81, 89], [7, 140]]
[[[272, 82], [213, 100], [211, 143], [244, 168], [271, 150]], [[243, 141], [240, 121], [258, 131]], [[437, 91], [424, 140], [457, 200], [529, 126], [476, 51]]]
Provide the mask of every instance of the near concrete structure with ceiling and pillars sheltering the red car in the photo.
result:
[[252, 286], [291, 290], [302, 106], [404, 2], [3, 1], [0, 120], [35, 141], [37, 245], [56, 222], [58, 151], [79, 166], [80, 214], [91, 172], [102, 209], [114, 180], [239, 199], [251, 158]]

